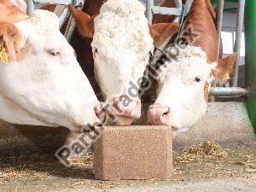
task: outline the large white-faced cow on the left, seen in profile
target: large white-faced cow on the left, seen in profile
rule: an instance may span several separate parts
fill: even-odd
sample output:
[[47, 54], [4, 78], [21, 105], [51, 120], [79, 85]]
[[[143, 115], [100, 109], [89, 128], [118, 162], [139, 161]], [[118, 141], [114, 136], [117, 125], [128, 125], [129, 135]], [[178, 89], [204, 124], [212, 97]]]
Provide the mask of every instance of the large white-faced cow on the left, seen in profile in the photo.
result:
[[11, 124], [84, 131], [102, 114], [74, 50], [46, 10], [31, 16], [0, 2], [0, 119]]

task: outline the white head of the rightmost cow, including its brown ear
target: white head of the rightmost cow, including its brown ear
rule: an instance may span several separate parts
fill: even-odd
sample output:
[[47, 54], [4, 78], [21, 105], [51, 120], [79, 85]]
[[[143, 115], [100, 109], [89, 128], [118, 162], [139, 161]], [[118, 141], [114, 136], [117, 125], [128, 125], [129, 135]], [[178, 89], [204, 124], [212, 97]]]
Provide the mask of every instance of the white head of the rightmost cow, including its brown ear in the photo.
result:
[[177, 131], [194, 125], [207, 111], [212, 80], [226, 80], [235, 61], [234, 54], [208, 64], [201, 48], [179, 49], [175, 60], [160, 67], [157, 99], [148, 109], [148, 124], [170, 125]]

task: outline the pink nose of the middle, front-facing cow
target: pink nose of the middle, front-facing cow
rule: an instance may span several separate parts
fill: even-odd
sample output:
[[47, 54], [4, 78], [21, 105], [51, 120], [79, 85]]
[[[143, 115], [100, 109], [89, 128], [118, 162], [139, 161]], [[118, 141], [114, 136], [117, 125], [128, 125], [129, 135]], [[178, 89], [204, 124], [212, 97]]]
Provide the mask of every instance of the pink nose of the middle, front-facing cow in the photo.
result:
[[121, 99], [120, 101], [120, 99], [113, 99], [112, 108], [115, 116], [138, 119], [141, 116], [142, 104], [140, 100], [125, 101]]

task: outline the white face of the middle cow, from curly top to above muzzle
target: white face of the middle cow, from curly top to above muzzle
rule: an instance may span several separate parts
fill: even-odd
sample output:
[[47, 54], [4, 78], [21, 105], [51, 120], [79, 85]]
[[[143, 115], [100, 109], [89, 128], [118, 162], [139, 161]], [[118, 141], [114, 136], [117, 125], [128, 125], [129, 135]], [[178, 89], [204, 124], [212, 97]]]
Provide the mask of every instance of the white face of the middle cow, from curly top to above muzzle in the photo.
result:
[[144, 11], [137, 0], [108, 0], [94, 20], [95, 75], [107, 102], [143, 77], [154, 48]]

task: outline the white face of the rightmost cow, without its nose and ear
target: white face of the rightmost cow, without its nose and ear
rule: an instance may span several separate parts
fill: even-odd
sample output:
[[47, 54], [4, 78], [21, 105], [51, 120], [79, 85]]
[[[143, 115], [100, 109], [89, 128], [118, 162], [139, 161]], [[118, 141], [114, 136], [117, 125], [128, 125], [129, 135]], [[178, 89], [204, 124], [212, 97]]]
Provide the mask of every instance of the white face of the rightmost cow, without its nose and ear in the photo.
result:
[[176, 61], [166, 61], [161, 66], [158, 103], [169, 108], [170, 117], [165, 122], [183, 131], [194, 125], [207, 111], [204, 96], [205, 84], [211, 84], [211, 70], [206, 54], [197, 47], [180, 49]]

